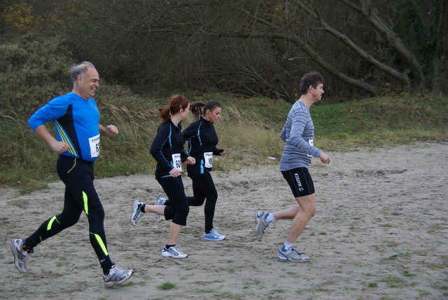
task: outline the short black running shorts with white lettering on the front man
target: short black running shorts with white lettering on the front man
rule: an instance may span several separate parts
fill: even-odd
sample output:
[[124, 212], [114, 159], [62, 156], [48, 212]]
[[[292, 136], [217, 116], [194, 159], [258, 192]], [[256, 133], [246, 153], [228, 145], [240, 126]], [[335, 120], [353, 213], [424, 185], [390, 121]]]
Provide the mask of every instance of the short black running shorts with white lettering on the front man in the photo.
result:
[[315, 192], [313, 179], [311, 179], [307, 168], [281, 171], [281, 174], [288, 182], [295, 198], [312, 195]]

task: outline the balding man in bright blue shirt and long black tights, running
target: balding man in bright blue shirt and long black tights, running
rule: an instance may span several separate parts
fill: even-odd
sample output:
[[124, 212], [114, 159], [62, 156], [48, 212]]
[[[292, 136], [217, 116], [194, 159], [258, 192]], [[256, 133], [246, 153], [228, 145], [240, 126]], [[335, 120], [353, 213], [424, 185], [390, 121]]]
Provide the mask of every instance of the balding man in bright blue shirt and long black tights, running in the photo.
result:
[[[99, 111], [93, 100], [99, 87], [99, 74], [94, 65], [90, 62], [74, 65], [71, 79], [71, 93], [55, 97], [28, 121], [34, 133], [59, 154], [57, 174], [65, 184], [64, 209], [44, 221], [28, 238], [13, 239], [10, 248], [15, 266], [20, 272], [26, 272], [27, 259], [34, 247], [76, 224], [84, 211], [89, 221], [90, 243], [103, 268], [104, 285], [111, 287], [125, 282], [134, 271], [123, 270], [109, 257], [104, 210], [93, 184], [93, 163], [99, 155], [100, 135], [117, 135], [118, 129], [115, 125], [99, 124]], [[55, 121], [56, 138], [44, 125], [48, 121]]]

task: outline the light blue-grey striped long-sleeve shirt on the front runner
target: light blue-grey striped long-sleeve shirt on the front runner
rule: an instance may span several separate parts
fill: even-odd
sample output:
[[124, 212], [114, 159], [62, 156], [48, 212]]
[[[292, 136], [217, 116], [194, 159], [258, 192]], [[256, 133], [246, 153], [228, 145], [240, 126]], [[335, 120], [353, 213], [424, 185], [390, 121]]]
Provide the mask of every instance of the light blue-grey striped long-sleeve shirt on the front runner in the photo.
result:
[[280, 159], [280, 170], [308, 168], [311, 156], [318, 157], [321, 149], [314, 144], [314, 123], [308, 107], [302, 101], [296, 101], [291, 107], [288, 118], [280, 133], [285, 142]]

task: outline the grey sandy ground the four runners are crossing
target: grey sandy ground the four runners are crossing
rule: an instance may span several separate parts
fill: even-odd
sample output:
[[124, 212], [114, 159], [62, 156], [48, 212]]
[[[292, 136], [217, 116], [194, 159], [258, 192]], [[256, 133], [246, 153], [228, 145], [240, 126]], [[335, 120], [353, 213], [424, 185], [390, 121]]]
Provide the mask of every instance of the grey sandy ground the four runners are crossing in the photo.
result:
[[[61, 182], [20, 195], [0, 189], [0, 299], [448, 299], [447, 144], [329, 153], [310, 167], [317, 214], [295, 248], [307, 263], [280, 262], [290, 221], [253, 234], [255, 210], [294, 205], [279, 160], [261, 168], [214, 171], [215, 228], [227, 238], [202, 240], [204, 207], [191, 207], [177, 240], [186, 259], [161, 256], [169, 221], [144, 215], [130, 224], [135, 199], [165, 196], [153, 175], [95, 180], [111, 258], [135, 273], [104, 288], [87, 218], [45, 240], [19, 273], [9, 243], [26, 238], [62, 210]], [[223, 159], [232, 159], [229, 152]], [[184, 177], [187, 194], [191, 181]], [[165, 289], [163, 289], [165, 287]], [[172, 287], [172, 288], [169, 288]]]

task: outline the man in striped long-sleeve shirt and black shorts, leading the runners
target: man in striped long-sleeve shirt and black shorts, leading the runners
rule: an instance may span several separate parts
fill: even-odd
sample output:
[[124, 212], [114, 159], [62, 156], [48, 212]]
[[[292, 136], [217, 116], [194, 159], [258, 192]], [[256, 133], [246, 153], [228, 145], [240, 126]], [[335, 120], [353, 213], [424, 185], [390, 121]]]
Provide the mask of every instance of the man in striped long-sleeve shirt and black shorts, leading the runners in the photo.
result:
[[318, 157], [322, 163], [330, 163], [330, 157], [314, 146], [314, 124], [309, 107], [321, 100], [323, 77], [316, 71], [305, 74], [300, 81], [300, 99], [293, 104], [280, 137], [285, 142], [280, 160], [280, 171], [288, 182], [298, 206], [291, 206], [279, 212], [255, 212], [255, 237], [262, 239], [270, 222], [279, 219], [293, 219], [288, 237], [279, 249], [279, 261], [304, 262], [309, 257], [293, 248], [293, 244], [304, 230], [311, 217], [316, 214], [316, 194], [308, 172], [311, 157]]

